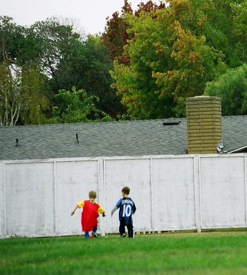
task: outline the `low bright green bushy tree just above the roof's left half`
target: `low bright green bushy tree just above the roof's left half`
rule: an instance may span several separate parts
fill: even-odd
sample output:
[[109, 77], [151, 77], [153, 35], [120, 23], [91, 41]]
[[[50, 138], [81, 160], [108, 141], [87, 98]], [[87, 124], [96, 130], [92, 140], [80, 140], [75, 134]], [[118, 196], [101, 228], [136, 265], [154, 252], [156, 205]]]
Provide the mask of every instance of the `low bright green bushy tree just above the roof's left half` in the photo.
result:
[[99, 110], [95, 102], [99, 98], [88, 95], [85, 90], [59, 90], [54, 95], [53, 117], [51, 123], [82, 123], [91, 121], [112, 121], [107, 113]]

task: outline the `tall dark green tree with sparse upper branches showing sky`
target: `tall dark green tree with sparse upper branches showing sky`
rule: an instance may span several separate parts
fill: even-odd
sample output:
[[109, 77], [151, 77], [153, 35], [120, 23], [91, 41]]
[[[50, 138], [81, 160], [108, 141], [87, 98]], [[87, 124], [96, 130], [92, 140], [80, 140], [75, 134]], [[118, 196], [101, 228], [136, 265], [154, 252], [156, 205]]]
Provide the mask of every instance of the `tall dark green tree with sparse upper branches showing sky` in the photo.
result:
[[112, 117], [125, 112], [120, 96], [111, 87], [113, 63], [101, 36], [82, 37], [74, 31], [73, 23], [62, 24], [54, 17], [37, 22], [31, 30], [39, 45], [37, 62], [50, 78], [46, 89], [51, 100], [60, 89], [75, 86], [97, 96], [96, 107]]

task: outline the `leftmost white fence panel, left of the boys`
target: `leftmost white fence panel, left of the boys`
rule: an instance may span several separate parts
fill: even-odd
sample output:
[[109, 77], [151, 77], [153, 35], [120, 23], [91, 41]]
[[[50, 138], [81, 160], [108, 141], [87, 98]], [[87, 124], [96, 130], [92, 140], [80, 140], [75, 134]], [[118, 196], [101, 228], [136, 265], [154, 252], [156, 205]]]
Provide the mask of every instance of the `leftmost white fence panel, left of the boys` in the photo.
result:
[[8, 163], [5, 168], [6, 235], [53, 235], [53, 163]]

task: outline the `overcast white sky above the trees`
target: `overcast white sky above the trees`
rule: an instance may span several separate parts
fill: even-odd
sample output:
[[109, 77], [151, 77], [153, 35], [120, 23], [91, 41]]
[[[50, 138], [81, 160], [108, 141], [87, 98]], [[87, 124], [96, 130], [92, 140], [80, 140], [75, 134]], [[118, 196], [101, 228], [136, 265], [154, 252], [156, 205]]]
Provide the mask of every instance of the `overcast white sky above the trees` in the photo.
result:
[[[147, 0], [129, 0], [132, 9]], [[153, 0], [159, 3], [159, 0]], [[30, 26], [47, 17], [66, 17], [75, 20], [85, 33], [103, 32], [106, 17], [121, 11], [124, 0], [0, 0], [0, 15], [13, 17], [19, 25]]]

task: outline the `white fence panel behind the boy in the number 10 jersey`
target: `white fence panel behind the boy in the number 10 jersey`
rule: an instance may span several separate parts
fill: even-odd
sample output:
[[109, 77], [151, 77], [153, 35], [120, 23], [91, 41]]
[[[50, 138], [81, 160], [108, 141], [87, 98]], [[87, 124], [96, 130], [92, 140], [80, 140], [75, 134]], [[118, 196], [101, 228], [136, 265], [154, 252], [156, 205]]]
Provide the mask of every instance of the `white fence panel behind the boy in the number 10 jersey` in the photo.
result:
[[150, 185], [150, 159], [106, 159], [105, 160], [105, 194], [106, 231], [118, 232], [118, 210], [113, 217], [111, 209], [122, 197], [124, 186], [131, 189], [137, 211], [133, 216], [134, 226], [138, 231], [151, 230], [151, 185]]

